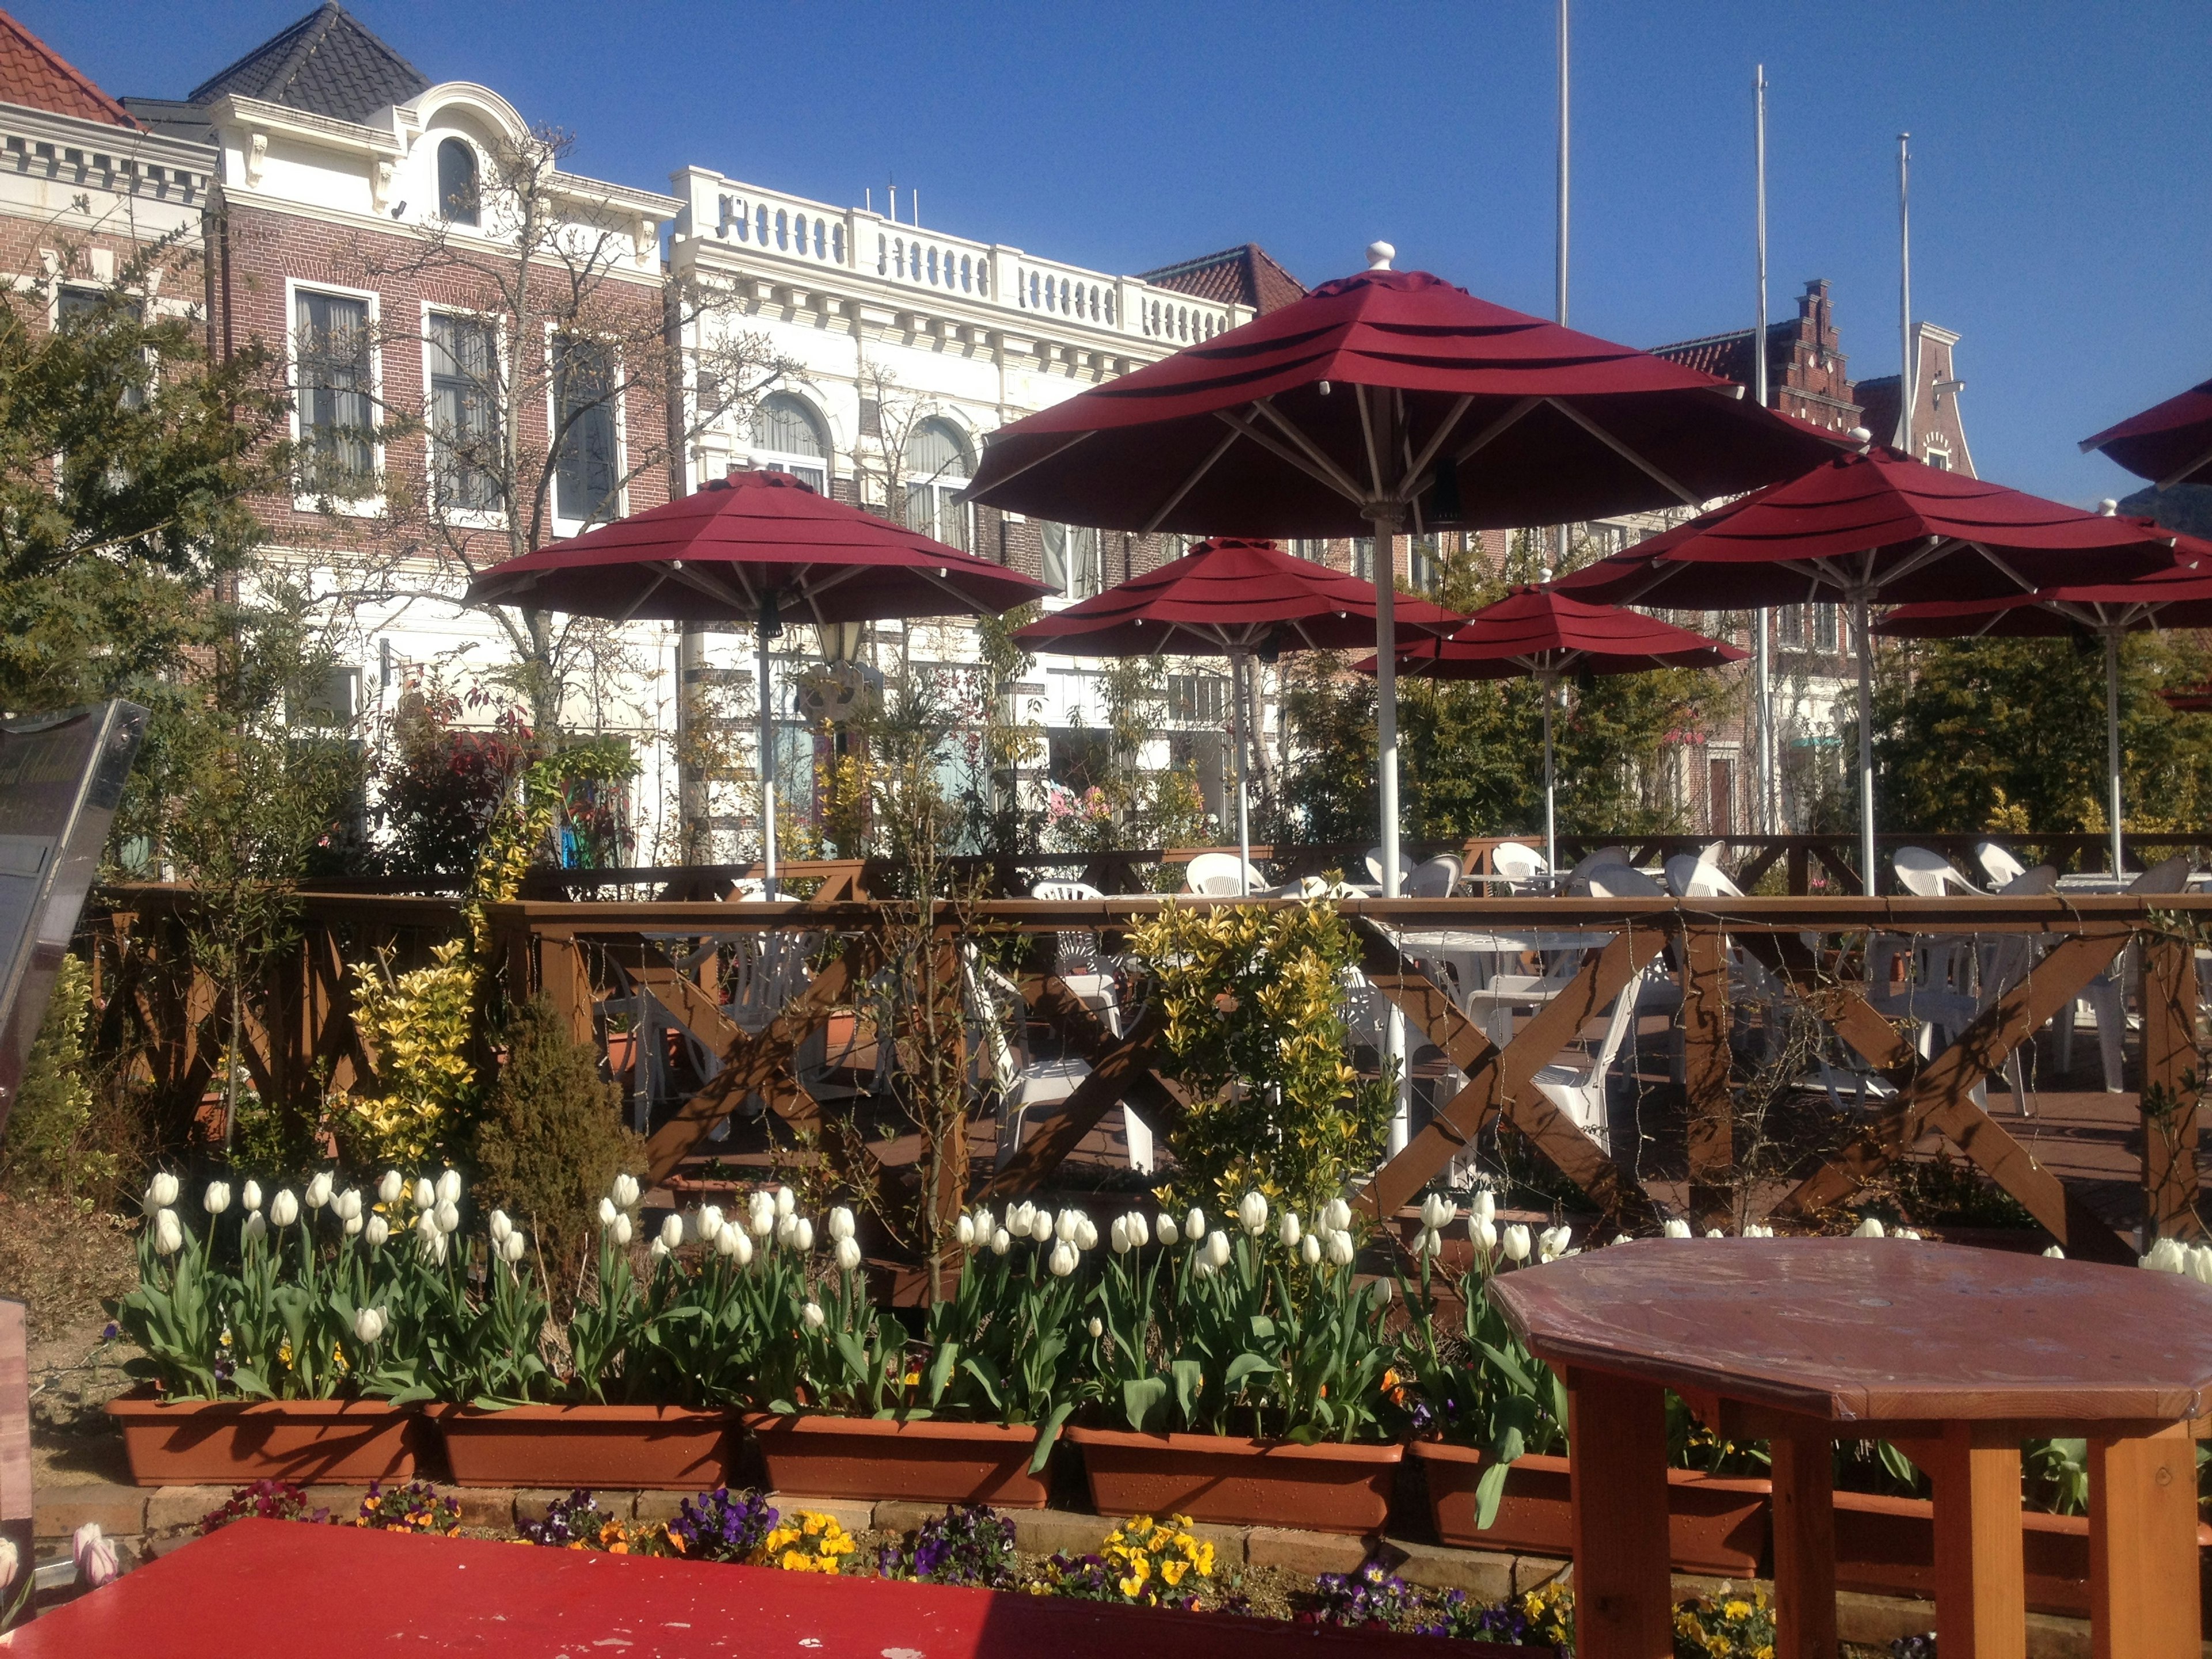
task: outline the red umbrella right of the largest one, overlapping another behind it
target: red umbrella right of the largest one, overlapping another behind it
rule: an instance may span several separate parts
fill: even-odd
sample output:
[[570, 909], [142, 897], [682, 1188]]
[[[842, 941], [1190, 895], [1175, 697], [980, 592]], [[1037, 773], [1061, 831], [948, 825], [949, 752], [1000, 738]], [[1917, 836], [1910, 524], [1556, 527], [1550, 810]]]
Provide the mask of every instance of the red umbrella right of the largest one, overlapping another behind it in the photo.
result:
[[1832, 599], [1858, 630], [1858, 843], [1874, 869], [1874, 679], [1867, 606], [1997, 599], [2066, 580], [2128, 580], [2172, 564], [2174, 535], [2099, 518], [1887, 445], [1827, 460], [1584, 566], [1559, 586], [1584, 599], [1739, 611]]

